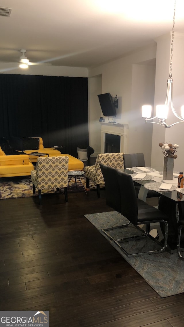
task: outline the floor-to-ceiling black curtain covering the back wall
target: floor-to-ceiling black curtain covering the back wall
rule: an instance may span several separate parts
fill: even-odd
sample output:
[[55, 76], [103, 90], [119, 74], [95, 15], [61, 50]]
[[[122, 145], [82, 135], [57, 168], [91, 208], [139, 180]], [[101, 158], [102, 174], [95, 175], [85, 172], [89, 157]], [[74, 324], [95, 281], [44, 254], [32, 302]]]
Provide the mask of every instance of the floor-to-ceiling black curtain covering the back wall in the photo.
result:
[[0, 74], [0, 136], [42, 137], [77, 157], [89, 142], [87, 80]]

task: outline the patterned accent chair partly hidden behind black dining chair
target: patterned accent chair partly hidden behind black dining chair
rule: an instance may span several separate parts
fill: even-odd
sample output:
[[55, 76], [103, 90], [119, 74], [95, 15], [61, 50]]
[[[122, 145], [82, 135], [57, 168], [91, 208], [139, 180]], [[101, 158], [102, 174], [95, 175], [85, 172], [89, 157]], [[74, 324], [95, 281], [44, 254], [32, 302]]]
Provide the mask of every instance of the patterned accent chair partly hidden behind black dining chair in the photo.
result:
[[100, 198], [100, 184], [104, 184], [100, 163], [113, 168], [123, 169], [123, 153], [100, 153], [97, 155], [95, 165], [85, 167], [86, 188], [89, 188], [89, 180], [95, 182], [97, 185], [98, 198]]

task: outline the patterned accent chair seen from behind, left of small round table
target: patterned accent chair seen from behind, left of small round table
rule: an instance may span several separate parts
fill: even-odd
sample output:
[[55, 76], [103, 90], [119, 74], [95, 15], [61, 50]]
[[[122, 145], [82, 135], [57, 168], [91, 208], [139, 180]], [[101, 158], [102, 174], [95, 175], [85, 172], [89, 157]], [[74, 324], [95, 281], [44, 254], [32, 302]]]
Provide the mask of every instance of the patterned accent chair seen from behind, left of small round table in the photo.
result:
[[65, 201], [68, 201], [68, 157], [40, 157], [36, 169], [31, 171], [33, 193], [38, 189], [39, 202], [42, 204], [41, 192], [45, 189], [64, 188]]

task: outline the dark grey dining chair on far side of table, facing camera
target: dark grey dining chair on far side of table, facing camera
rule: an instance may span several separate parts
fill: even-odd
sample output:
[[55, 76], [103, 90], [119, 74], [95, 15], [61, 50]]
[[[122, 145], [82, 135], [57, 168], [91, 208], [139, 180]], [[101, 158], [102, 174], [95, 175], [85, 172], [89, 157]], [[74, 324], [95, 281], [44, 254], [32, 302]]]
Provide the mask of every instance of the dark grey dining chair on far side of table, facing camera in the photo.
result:
[[[124, 153], [123, 162], [124, 162], [124, 168], [145, 167], [144, 153]], [[136, 181], [134, 181], [134, 185], [138, 197], [138, 193], [141, 186]], [[159, 196], [157, 192], [148, 190], [147, 198], [158, 198], [158, 197]]]

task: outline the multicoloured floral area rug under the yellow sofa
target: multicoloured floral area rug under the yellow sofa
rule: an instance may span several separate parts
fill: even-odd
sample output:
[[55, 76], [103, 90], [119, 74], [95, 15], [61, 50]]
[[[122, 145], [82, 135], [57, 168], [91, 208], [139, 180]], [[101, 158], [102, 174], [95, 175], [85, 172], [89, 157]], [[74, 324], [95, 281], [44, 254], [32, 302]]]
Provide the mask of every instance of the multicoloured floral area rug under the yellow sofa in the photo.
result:
[[[86, 188], [85, 175], [80, 176], [80, 179], [86, 191], [96, 190], [96, 184], [92, 181], [90, 181], [89, 188]], [[101, 184], [100, 187], [103, 188], [104, 185]], [[63, 189], [60, 189], [60, 192], [63, 193]], [[75, 178], [72, 177], [68, 185], [68, 193], [75, 192], [84, 192], [84, 189], [78, 179], [76, 187]], [[56, 193], [56, 189], [42, 191], [42, 194], [46, 193]], [[38, 196], [38, 190], [36, 190], [36, 193], [33, 194], [30, 176], [5, 177], [0, 179], [0, 199], [26, 198], [34, 196]]]

